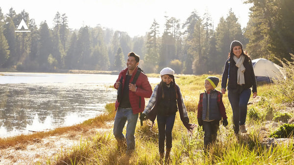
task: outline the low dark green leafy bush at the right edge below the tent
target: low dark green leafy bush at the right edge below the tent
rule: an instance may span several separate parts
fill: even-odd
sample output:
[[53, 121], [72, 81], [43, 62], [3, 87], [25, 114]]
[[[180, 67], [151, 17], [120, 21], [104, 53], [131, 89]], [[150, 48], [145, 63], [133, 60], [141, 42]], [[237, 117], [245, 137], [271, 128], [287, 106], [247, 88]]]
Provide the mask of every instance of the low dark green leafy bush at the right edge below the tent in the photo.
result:
[[293, 136], [294, 124], [283, 124], [270, 134], [270, 138], [289, 138]]

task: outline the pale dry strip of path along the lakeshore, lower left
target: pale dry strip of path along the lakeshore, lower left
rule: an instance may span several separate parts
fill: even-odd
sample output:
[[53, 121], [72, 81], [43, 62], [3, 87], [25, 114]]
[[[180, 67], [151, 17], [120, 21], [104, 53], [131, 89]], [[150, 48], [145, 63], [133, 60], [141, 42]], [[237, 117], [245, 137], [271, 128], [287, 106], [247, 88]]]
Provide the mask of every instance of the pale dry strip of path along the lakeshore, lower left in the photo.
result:
[[103, 128], [93, 128], [87, 132], [67, 132], [60, 135], [35, 139], [29, 144], [18, 144], [9, 148], [0, 149], [0, 165], [41, 165], [54, 162], [56, 154], [61, 150], [71, 149], [80, 144], [81, 140], [94, 137], [97, 132], [109, 133], [113, 124]]

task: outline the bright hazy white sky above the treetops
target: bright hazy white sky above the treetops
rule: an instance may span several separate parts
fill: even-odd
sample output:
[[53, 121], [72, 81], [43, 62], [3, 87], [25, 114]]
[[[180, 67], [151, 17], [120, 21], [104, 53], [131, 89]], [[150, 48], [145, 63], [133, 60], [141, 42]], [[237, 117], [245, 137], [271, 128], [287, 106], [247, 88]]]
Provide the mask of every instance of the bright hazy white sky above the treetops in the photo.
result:
[[12, 7], [17, 14], [25, 10], [37, 25], [47, 21], [52, 28], [57, 11], [66, 13], [69, 27], [79, 29], [83, 25], [125, 31], [131, 37], [145, 35], [155, 19], [163, 30], [164, 16], [185, 22], [196, 10], [199, 16], [205, 11], [211, 14], [216, 27], [221, 17], [226, 18], [232, 8], [242, 28], [249, 19], [250, 4], [245, 0], [1, 0], [5, 15]]

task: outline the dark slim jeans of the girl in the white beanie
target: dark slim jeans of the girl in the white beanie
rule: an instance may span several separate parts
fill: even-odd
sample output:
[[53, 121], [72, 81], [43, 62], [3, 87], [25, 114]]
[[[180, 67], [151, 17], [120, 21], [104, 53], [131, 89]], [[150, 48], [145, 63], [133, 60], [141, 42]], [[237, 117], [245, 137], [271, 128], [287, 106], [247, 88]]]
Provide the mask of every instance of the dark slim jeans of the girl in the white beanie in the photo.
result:
[[170, 116], [162, 116], [157, 114], [158, 125], [158, 149], [160, 153], [164, 152], [164, 140], [166, 138], [166, 147], [172, 148], [172, 128], [175, 120], [175, 114]]

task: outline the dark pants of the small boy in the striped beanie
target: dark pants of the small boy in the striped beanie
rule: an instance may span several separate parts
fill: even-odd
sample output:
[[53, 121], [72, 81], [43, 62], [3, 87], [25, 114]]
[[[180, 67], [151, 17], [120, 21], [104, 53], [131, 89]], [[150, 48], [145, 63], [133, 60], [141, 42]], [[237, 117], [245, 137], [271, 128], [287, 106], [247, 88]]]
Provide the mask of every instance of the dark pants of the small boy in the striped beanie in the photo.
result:
[[207, 149], [209, 144], [214, 143], [217, 140], [220, 120], [214, 120], [211, 122], [203, 121], [202, 127], [204, 131], [204, 149]]

